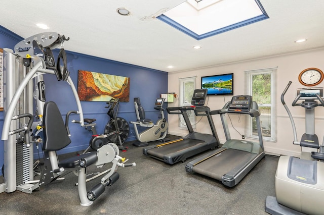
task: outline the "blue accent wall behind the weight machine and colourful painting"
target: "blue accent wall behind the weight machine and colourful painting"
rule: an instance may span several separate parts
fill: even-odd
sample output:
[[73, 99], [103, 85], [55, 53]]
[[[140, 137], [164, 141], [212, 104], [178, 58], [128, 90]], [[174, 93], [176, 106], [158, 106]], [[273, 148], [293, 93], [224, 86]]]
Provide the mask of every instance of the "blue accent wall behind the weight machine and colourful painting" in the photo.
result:
[[[64, 32], [58, 32], [64, 34]], [[32, 36], [32, 35], [30, 35]], [[66, 35], [68, 36], [68, 35]], [[0, 26], [0, 47], [11, 48], [20, 42], [23, 38], [14, 34], [10, 30]], [[73, 40], [73, 38], [70, 38]], [[86, 42], [86, 41], [85, 41]], [[66, 41], [68, 43], [68, 41]], [[108, 50], [109, 51], [109, 50]], [[54, 50], [54, 55], [58, 55], [58, 50]], [[159, 112], [154, 110], [154, 102], [161, 93], [168, 91], [168, 73], [164, 71], [153, 70], [136, 65], [130, 65], [122, 62], [97, 58], [66, 50], [67, 52], [67, 68], [70, 72], [70, 77], [77, 88], [78, 70], [86, 70], [91, 72], [105, 73], [110, 75], [130, 77], [130, 101], [120, 102], [118, 117], [126, 119], [126, 121], [136, 121], [134, 109], [134, 97], [140, 97], [141, 104], [145, 109], [146, 118], [156, 122]], [[73, 93], [70, 86], [64, 81], [57, 81], [54, 75], [44, 75], [46, 85], [46, 100], [55, 101], [62, 113], [65, 121], [65, 116], [68, 111], [77, 110]], [[82, 101], [84, 118], [97, 119], [97, 132], [100, 134], [104, 131], [104, 127], [110, 119], [107, 115], [106, 102], [99, 101]], [[167, 117], [167, 113], [165, 113]], [[73, 117], [72, 117], [73, 119]], [[76, 119], [76, 118], [75, 118]], [[0, 131], [2, 131], [4, 123], [4, 113], [0, 112]], [[130, 135], [126, 141], [136, 140], [134, 126], [130, 126]], [[80, 127], [78, 124], [70, 124], [71, 144], [65, 149], [60, 150], [61, 153], [68, 153], [85, 149], [89, 146], [91, 132]], [[37, 152], [34, 153], [34, 158], [37, 158]], [[0, 140], [0, 168], [4, 163], [4, 141]], [[0, 173], [1, 175], [1, 173]]]

